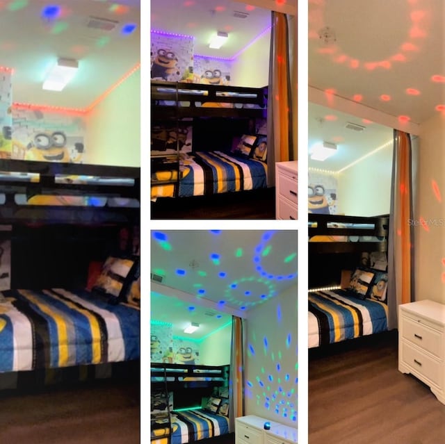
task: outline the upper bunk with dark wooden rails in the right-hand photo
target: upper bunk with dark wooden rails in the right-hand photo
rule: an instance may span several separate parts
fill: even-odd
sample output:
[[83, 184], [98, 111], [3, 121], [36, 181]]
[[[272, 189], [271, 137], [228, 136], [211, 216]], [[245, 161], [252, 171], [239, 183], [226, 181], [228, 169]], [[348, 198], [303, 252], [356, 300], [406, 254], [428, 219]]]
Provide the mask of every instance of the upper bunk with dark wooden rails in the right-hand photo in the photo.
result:
[[389, 215], [308, 215], [309, 254], [386, 252]]

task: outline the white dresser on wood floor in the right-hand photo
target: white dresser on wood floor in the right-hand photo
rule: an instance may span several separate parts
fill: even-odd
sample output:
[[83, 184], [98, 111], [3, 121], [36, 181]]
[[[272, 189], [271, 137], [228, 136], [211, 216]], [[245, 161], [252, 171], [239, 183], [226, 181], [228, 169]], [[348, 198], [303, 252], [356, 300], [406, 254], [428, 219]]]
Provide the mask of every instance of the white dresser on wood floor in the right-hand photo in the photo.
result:
[[398, 370], [411, 373], [445, 404], [445, 305], [429, 300], [398, 307]]

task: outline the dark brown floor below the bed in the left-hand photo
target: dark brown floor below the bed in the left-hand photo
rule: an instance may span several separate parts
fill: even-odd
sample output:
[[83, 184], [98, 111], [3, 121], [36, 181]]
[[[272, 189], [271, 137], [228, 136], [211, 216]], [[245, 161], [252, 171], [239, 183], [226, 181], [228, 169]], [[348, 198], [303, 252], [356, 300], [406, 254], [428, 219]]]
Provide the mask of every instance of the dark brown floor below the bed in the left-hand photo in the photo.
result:
[[0, 443], [138, 444], [139, 384], [101, 380], [0, 393]]

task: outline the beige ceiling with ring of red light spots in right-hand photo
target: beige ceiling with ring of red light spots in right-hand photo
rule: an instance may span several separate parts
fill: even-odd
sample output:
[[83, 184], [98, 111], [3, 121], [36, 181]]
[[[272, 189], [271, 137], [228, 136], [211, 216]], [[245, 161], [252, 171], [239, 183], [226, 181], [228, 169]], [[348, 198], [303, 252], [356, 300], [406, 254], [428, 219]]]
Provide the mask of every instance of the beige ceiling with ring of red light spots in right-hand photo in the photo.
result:
[[309, 86], [420, 124], [445, 109], [442, 0], [310, 0]]

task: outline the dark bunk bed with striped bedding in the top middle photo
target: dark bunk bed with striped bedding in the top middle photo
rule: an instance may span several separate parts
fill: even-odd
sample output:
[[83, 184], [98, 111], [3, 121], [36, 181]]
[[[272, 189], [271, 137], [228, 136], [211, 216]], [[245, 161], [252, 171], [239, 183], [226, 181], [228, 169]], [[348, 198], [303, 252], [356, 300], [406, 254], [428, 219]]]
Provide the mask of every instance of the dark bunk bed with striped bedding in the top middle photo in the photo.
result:
[[[153, 201], [267, 187], [255, 147], [233, 146], [252, 121], [266, 119], [267, 88], [152, 81], [151, 99]], [[187, 126], [193, 142], [185, 142]]]

